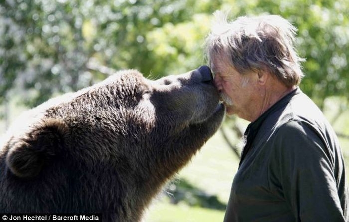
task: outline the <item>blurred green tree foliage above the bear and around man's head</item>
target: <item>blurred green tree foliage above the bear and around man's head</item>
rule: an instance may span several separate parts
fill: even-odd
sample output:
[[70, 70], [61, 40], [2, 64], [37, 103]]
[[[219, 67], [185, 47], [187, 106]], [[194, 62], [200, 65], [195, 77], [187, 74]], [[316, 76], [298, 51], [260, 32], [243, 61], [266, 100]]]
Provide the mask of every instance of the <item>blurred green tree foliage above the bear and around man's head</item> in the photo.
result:
[[[0, 4], [0, 102], [14, 83], [33, 106], [104, 78], [109, 68], [160, 77], [204, 63], [211, 14], [280, 14], [299, 28], [302, 89], [322, 107], [349, 91], [347, 0], [5, 0]], [[104, 72], [103, 73], [101, 73]]]

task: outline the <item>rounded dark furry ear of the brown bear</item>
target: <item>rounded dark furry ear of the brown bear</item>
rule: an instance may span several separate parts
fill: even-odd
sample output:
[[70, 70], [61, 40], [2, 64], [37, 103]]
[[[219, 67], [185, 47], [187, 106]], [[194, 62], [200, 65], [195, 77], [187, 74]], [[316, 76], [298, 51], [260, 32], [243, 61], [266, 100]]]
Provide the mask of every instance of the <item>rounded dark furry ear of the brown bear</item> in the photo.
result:
[[64, 146], [68, 126], [59, 119], [46, 119], [20, 138], [10, 141], [6, 163], [18, 177], [37, 176], [43, 165]]

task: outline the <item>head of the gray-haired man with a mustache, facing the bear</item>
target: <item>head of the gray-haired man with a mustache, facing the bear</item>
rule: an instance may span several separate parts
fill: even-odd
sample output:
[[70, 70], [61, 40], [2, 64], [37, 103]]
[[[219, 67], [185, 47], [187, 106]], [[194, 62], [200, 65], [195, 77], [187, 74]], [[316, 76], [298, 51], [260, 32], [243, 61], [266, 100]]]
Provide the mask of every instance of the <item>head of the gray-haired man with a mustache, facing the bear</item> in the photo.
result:
[[239, 17], [232, 22], [221, 12], [215, 16], [206, 39], [215, 83], [228, 105], [227, 113], [253, 121], [280, 99], [278, 92], [289, 92], [303, 77], [303, 59], [293, 48], [296, 28], [277, 15]]

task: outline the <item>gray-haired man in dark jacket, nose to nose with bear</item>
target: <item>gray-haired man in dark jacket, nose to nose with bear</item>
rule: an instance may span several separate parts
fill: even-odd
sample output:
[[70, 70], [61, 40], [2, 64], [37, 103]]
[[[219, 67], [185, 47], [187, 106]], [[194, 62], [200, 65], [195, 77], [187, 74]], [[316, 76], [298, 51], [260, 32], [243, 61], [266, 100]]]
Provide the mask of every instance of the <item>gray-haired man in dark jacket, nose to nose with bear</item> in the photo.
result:
[[227, 114], [251, 121], [224, 222], [349, 221], [334, 130], [302, 93], [296, 28], [280, 16], [218, 22], [206, 53]]

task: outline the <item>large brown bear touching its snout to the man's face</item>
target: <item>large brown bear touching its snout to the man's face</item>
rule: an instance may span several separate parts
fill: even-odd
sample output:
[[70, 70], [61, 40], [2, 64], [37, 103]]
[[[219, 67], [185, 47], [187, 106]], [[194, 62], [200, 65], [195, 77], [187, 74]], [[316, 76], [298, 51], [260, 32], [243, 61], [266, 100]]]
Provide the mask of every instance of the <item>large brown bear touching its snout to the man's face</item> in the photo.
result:
[[27, 111], [0, 144], [0, 213], [101, 213], [138, 222], [217, 131], [207, 66], [149, 80], [119, 71]]

